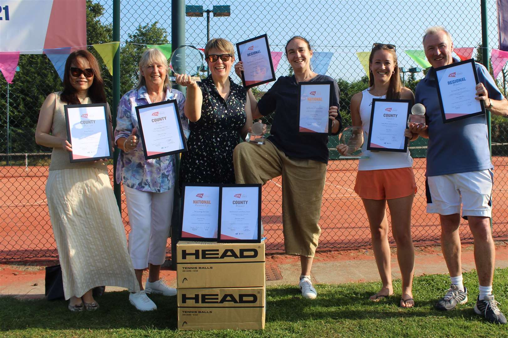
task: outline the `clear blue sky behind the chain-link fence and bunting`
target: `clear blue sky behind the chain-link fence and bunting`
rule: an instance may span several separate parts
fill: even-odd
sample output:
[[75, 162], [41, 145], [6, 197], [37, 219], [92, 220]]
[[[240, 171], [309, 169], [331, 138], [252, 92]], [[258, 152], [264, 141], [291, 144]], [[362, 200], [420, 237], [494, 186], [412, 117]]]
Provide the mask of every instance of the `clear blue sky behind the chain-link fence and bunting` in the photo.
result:
[[[107, 9], [103, 20], [111, 21], [111, 2], [99, 0]], [[315, 51], [333, 52], [328, 69], [333, 78], [358, 80], [365, 74], [356, 52], [369, 51], [372, 43], [397, 47], [399, 65], [417, 66], [405, 49], [423, 49], [421, 37], [433, 25], [447, 27], [456, 47], [475, 47], [482, 41], [480, 0], [217, 0], [186, 1], [186, 5], [230, 5], [230, 17], [210, 20], [210, 36], [224, 37], [233, 44], [268, 34], [272, 51], [283, 51], [287, 40], [302, 35]], [[496, 2], [487, 1], [489, 47], [497, 48]], [[121, 40], [138, 25], [158, 21], [171, 36], [171, 0], [122, 0]], [[204, 47], [206, 18], [186, 17], [187, 44]], [[474, 54], [473, 54], [474, 55]], [[282, 58], [276, 76], [288, 73]], [[266, 90], [271, 85], [261, 86]]]

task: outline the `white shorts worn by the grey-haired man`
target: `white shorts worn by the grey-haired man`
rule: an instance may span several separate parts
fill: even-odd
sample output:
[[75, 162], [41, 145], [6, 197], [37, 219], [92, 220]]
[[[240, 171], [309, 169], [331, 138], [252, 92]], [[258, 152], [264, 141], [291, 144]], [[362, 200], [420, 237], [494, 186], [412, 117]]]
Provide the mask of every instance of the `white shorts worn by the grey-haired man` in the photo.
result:
[[467, 216], [491, 217], [493, 178], [490, 169], [427, 177], [427, 212], [456, 214], [460, 213], [462, 204], [465, 219]]

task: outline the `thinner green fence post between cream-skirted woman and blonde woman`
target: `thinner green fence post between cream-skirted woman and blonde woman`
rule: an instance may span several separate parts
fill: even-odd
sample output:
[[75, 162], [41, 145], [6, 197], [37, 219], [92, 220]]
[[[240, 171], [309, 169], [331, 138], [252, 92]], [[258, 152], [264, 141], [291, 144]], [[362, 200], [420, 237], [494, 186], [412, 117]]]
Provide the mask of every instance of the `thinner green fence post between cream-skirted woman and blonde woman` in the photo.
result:
[[[120, 0], [113, 0], [113, 41], [120, 41]], [[116, 128], [116, 113], [120, 102], [120, 47], [118, 47], [115, 57], [113, 58], [113, 130]], [[116, 204], [120, 214], [122, 213], [122, 201], [120, 183], [116, 182], [116, 161], [120, 155], [120, 150], [115, 147], [113, 155], [113, 191], [115, 193]]]

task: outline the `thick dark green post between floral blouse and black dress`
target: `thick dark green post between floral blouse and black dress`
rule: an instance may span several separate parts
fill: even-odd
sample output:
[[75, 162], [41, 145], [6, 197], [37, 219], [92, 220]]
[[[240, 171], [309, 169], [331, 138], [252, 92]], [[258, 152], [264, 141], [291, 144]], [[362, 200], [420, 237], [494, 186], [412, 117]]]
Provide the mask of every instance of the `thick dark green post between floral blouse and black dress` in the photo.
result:
[[[185, 45], [185, 0], [171, 0], [171, 50]], [[174, 86], [185, 94], [185, 87]], [[173, 200], [173, 215], [171, 217], [171, 267], [176, 270], [176, 243], [180, 234], [180, 188], [178, 176], [180, 172], [180, 157], [175, 155], [175, 193]]]

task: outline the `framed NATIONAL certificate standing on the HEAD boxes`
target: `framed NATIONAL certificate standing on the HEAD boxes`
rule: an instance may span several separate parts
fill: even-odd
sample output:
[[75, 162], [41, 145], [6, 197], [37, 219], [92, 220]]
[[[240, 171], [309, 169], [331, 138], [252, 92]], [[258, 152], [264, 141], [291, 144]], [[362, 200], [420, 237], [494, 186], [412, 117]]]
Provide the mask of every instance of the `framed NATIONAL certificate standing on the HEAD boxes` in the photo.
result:
[[217, 240], [219, 185], [184, 184], [182, 239]]

